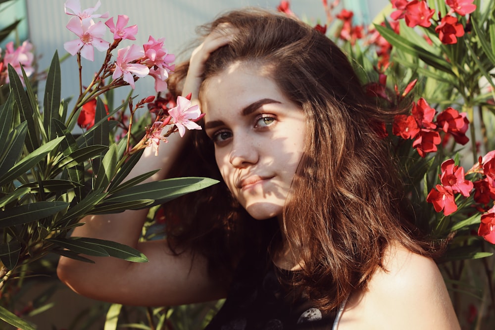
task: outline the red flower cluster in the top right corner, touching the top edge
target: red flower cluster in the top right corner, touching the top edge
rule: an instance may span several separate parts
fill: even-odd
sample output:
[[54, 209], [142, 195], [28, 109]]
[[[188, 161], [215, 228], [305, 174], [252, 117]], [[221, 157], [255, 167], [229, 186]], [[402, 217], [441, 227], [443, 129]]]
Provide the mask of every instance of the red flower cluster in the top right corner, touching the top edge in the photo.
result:
[[[422, 26], [429, 28], [432, 25], [432, 18], [435, 9], [428, 6], [425, 0], [391, 0], [392, 6], [397, 10], [391, 14], [391, 18], [398, 20], [403, 18], [409, 27]], [[455, 44], [457, 38], [464, 35], [464, 26], [459, 23], [456, 15], [466, 16], [476, 9], [474, 0], [445, 0], [450, 10], [444, 17], [440, 17], [435, 27], [435, 32], [439, 34], [439, 39], [444, 44]], [[454, 13], [456, 14], [454, 16]]]

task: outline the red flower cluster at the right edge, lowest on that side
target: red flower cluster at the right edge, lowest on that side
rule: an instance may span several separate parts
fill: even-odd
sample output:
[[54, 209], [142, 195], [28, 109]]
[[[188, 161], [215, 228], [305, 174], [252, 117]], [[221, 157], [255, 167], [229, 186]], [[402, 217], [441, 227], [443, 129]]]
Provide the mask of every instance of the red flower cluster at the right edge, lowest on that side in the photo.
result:
[[[473, 205], [482, 212], [478, 235], [495, 244], [495, 150], [480, 157], [467, 173], [456, 165], [453, 159], [442, 163], [440, 184], [431, 189], [426, 200], [433, 204], [435, 211], [450, 215], [457, 211], [456, 194], [469, 197], [474, 189]], [[476, 181], [466, 179], [467, 175], [476, 175]]]

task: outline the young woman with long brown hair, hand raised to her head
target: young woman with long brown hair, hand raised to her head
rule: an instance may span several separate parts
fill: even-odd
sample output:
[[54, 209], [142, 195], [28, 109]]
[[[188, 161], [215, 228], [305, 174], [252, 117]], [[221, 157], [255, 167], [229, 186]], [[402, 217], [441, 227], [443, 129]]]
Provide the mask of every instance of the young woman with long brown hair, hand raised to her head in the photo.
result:
[[134, 246], [149, 262], [61, 258], [63, 282], [133, 305], [227, 296], [207, 329], [459, 328], [377, 132], [393, 114], [328, 38], [284, 15], [233, 11], [204, 27], [172, 77], [171, 90], [183, 86], [205, 113], [205, 164], [186, 163], [174, 141], [132, 175], [155, 165], [155, 179], [175, 176], [189, 164], [188, 174], [222, 183], [165, 206], [168, 244], [139, 241], [146, 211], [84, 219], [74, 236]]

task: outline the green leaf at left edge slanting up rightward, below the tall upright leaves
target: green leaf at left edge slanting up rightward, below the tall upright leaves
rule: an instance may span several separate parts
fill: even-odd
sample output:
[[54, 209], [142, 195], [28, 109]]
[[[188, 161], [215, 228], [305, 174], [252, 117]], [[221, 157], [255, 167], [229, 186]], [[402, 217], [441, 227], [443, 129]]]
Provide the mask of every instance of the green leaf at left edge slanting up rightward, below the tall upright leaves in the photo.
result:
[[27, 123], [23, 122], [13, 129], [5, 140], [2, 140], [4, 147], [0, 151], [0, 173], [7, 173], [21, 156], [26, 133]]

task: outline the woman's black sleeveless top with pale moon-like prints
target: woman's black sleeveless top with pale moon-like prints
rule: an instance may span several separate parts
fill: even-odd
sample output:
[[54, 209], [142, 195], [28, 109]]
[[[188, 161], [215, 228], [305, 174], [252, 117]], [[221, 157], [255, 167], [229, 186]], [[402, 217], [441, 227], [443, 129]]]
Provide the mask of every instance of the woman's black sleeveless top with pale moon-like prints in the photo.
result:
[[263, 257], [244, 258], [225, 303], [205, 330], [331, 330], [339, 311], [325, 313], [296, 296], [284, 284], [292, 274]]

